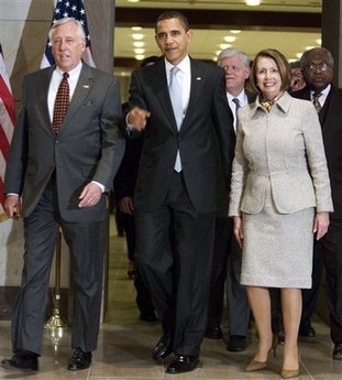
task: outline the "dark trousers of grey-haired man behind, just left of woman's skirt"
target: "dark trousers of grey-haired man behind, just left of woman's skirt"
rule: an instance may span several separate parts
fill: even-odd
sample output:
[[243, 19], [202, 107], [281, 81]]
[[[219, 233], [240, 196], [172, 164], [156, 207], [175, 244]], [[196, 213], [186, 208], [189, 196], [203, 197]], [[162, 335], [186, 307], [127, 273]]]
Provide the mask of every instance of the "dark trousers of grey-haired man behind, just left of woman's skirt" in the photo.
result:
[[233, 236], [233, 219], [217, 218], [211, 268], [208, 327], [220, 326], [227, 279], [229, 335], [246, 336], [251, 307], [240, 284], [241, 249]]

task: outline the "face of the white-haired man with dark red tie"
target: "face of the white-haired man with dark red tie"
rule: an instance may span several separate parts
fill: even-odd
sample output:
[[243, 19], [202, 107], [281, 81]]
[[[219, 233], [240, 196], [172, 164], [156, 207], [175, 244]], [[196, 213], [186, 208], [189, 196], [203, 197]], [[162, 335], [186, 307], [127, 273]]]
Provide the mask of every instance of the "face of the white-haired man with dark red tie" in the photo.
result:
[[63, 72], [75, 68], [86, 48], [85, 41], [78, 35], [78, 26], [74, 22], [58, 25], [52, 35], [52, 53], [57, 66]]

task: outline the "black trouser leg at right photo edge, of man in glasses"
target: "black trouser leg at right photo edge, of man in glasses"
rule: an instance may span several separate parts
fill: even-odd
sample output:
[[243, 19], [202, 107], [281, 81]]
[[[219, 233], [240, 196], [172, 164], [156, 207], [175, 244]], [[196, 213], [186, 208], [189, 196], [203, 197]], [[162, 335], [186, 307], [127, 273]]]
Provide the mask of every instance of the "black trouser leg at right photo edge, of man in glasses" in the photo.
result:
[[322, 240], [333, 344], [342, 344], [342, 219], [331, 219]]

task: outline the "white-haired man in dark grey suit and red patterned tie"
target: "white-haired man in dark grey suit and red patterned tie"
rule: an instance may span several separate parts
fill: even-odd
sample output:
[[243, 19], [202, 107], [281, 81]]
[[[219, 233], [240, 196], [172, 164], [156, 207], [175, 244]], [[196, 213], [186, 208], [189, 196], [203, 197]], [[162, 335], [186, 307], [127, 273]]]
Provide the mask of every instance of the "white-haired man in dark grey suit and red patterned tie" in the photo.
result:
[[[124, 151], [118, 128], [122, 112], [117, 80], [81, 62], [86, 46], [81, 23], [62, 19], [52, 26], [49, 40], [56, 66], [24, 78], [7, 164], [4, 209], [10, 218], [23, 217], [25, 252], [12, 316], [14, 355], [2, 366], [37, 370], [60, 227], [73, 258], [75, 351], [68, 369], [80, 370], [90, 366], [97, 347], [108, 229], [106, 192]], [[62, 77], [68, 77], [70, 102], [53, 130]]]

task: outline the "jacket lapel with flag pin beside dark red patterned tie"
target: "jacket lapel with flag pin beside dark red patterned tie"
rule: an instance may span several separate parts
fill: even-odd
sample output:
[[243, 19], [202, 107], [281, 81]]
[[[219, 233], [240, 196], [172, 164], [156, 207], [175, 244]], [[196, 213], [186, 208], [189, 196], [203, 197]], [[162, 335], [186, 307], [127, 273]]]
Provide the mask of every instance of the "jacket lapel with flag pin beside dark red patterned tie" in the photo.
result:
[[69, 108], [66, 112], [65, 119], [60, 126], [60, 132], [68, 128], [67, 124], [71, 121], [75, 112], [79, 109], [81, 104], [87, 98], [88, 94], [92, 88], [92, 73], [88, 65], [85, 63], [82, 64], [82, 68], [79, 74], [79, 78], [75, 88], [75, 93], [73, 95]]

